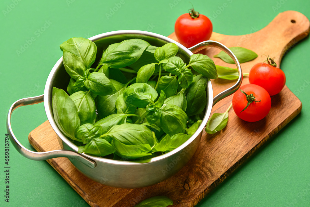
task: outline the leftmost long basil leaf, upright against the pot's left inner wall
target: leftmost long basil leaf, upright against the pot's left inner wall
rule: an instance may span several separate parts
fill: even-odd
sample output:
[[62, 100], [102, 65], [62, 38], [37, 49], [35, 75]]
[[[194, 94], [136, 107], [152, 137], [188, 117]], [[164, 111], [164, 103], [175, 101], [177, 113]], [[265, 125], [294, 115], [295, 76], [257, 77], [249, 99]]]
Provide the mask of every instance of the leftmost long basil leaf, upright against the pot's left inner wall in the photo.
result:
[[80, 126], [78, 110], [72, 99], [62, 89], [53, 87], [52, 108], [54, 120], [60, 131], [73, 140]]

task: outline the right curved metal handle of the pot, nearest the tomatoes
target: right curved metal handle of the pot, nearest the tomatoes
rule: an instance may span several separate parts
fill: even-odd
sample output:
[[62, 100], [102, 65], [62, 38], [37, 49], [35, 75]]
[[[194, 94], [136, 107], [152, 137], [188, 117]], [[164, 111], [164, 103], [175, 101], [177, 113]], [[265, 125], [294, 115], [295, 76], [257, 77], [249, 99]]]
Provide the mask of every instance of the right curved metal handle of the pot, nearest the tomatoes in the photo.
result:
[[197, 45], [194, 45], [193, 47], [190, 47], [188, 49], [193, 53], [197, 53], [198, 51], [205, 49], [207, 47], [216, 47], [216, 48], [219, 48], [220, 50], [226, 52], [232, 58], [232, 60], [236, 63], [238, 73], [239, 73], [239, 78], [237, 80], [237, 83], [235, 83], [232, 87], [226, 89], [225, 91], [220, 92], [219, 94], [217, 94], [213, 98], [213, 106], [214, 106], [217, 102], [219, 102], [223, 98], [228, 97], [229, 95], [233, 94], [234, 92], [236, 92], [240, 88], [243, 75], [242, 75], [241, 66], [240, 66], [240, 63], [239, 63], [237, 57], [235, 56], [235, 54], [232, 53], [232, 51], [230, 49], [228, 49], [228, 47], [226, 47], [222, 43], [212, 41], [212, 40], [208, 40], [208, 41], [198, 43]]

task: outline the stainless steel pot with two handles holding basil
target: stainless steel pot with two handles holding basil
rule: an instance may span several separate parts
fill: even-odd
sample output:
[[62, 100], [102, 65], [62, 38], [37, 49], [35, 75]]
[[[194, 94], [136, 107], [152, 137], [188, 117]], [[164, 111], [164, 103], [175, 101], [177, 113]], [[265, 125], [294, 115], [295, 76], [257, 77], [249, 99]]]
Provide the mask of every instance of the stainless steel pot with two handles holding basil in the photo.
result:
[[[177, 55], [180, 56], [184, 60], [184, 62], [187, 63], [189, 61], [189, 57], [193, 55], [193, 52], [198, 52], [206, 47], [217, 47], [226, 52], [229, 56], [231, 56], [236, 63], [239, 72], [239, 78], [237, 80], [237, 83], [234, 84], [231, 88], [228, 88], [227, 90], [219, 93], [213, 98], [211, 82], [210, 80], [207, 82], [207, 107], [201, 125], [190, 139], [188, 139], [184, 144], [182, 144], [175, 150], [154, 157], [148, 160], [149, 162], [146, 163], [110, 160], [101, 157], [86, 155], [84, 153], [78, 153], [78, 147], [60, 132], [59, 128], [55, 123], [51, 106], [52, 88], [57, 87], [66, 90], [70, 79], [69, 75], [64, 69], [61, 57], [56, 62], [47, 78], [47, 82], [44, 88], [44, 94], [37, 97], [23, 98], [15, 101], [15, 103], [12, 104], [9, 110], [7, 116], [7, 131], [10, 135], [11, 142], [13, 143], [17, 151], [20, 152], [20, 154], [31, 160], [47, 160], [56, 157], [67, 157], [75, 166], [75, 168], [88, 178], [91, 178], [96, 182], [101, 182], [108, 186], [121, 188], [137, 188], [156, 184], [158, 182], [166, 180], [167, 178], [178, 172], [179, 169], [181, 169], [188, 162], [188, 160], [193, 156], [194, 152], [198, 147], [202, 135], [202, 130], [204, 129], [209, 119], [212, 106], [224, 97], [227, 97], [232, 93], [236, 92], [241, 86], [242, 71], [240, 64], [236, 56], [227, 47], [215, 41], [204, 41], [187, 49], [180, 43], [177, 43], [174, 40], [160, 34], [137, 30], [121, 30], [107, 32], [103, 34], [98, 34], [89, 39], [97, 45], [96, 60], [100, 60], [100, 56], [102, 55], [103, 50], [107, 48], [108, 45], [132, 38], [144, 39], [151, 45], [155, 45], [157, 47], [160, 47], [166, 43], [175, 43], [179, 47], [179, 52]], [[13, 110], [20, 106], [37, 104], [41, 103], [42, 101], [44, 101], [44, 108], [48, 121], [50, 122], [53, 130], [57, 134], [63, 150], [54, 150], [48, 152], [30, 151], [20, 144], [12, 131], [11, 114]]]

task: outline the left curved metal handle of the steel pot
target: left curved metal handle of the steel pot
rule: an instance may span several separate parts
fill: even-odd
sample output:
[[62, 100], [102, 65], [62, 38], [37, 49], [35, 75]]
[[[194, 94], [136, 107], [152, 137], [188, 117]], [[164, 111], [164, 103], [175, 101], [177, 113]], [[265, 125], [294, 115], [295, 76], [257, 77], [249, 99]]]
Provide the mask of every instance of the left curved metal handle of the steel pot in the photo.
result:
[[[43, 94], [44, 95], [44, 94]], [[41, 96], [36, 96], [36, 97], [29, 97], [29, 98], [23, 98], [20, 100], [15, 101], [7, 115], [7, 132], [9, 133], [9, 137], [11, 140], [11, 143], [14, 145], [16, 150], [27, 157], [30, 160], [48, 160], [51, 158], [56, 158], [56, 157], [67, 157], [67, 158], [72, 158], [75, 160], [78, 160], [85, 164], [86, 166], [90, 168], [95, 168], [96, 163], [93, 160], [88, 159], [87, 157], [71, 150], [53, 150], [53, 151], [48, 151], [48, 152], [34, 152], [26, 149], [20, 142], [16, 139], [12, 127], [11, 127], [11, 115], [12, 112], [17, 109], [20, 106], [27, 106], [27, 105], [32, 105], [32, 104], [38, 104], [43, 102], [43, 95]]]

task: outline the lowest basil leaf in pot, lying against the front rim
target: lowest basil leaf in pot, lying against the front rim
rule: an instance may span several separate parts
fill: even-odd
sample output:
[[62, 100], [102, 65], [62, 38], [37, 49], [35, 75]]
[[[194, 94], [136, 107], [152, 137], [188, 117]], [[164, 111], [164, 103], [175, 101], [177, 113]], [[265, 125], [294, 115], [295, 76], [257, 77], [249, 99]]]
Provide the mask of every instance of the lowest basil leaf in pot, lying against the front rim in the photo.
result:
[[152, 150], [148, 144], [127, 145], [117, 139], [113, 139], [112, 145], [116, 149], [115, 153], [123, 159], [133, 160], [152, 155], [152, 153], [148, 153]]

